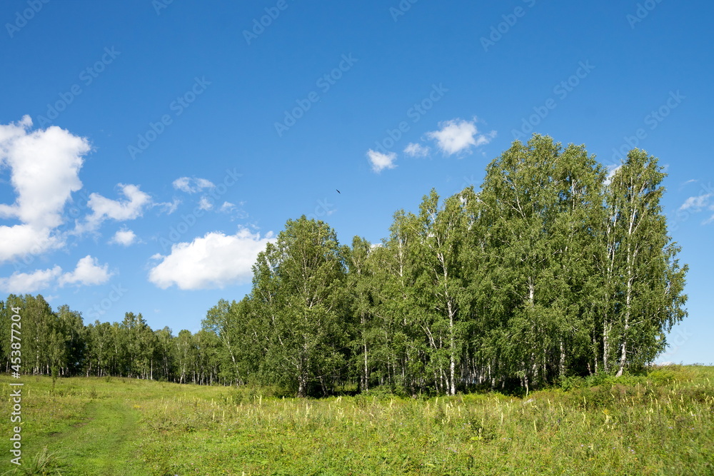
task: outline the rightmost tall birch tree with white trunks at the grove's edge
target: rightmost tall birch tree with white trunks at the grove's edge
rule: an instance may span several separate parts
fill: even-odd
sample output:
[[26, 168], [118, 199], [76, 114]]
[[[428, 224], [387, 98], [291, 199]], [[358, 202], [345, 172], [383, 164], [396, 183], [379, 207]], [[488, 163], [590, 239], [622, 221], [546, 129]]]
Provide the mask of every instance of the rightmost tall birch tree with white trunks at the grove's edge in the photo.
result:
[[664, 177], [656, 158], [633, 149], [605, 194], [603, 366], [616, 375], [630, 363], [651, 360], [663, 348], [663, 331], [685, 316], [687, 268], [678, 264], [678, 247], [667, 235], [660, 205]]

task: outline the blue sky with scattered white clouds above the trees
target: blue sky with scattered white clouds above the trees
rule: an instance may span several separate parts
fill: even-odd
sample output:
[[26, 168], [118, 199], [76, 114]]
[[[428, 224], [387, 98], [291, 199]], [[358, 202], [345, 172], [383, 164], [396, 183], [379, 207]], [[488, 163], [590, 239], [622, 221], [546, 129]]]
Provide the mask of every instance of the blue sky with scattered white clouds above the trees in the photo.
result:
[[[195, 332], [288, 218], [378, 242], [532, 132], [667, 168], [712, 363], [714, 5], [3, 1], [0, 294]], [[339, 189], [341, 193], [337, 193]]]

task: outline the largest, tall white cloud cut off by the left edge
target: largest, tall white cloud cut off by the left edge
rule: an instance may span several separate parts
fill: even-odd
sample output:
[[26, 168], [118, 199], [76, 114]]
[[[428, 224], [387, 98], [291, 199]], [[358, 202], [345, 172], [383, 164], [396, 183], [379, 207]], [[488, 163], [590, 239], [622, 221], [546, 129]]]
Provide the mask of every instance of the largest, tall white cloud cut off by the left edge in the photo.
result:
[[82, 183], [79, 170], [89, 152], [86, 139], [56, 126], [30, 131], [32, 120], [0, 125], [0, 168], [10, 168], [16, 199], [0, 203], [0, 218], [21, 223], [0, 226], [0, 262], [64, 245], [54, 236], [71, 193]]

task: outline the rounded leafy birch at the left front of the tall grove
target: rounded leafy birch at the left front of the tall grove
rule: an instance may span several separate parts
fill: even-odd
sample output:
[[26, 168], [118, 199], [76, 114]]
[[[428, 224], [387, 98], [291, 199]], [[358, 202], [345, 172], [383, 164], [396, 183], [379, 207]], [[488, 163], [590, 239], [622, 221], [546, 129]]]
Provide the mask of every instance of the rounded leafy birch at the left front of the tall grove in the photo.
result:
[[264, 370], [300, 397], [329, 393], [343, 373], [348, 345], [346, 270], [335, 232], [305, 216], [288, 220], [254, 270], [254, 294], [263, 297], [270, 326]]

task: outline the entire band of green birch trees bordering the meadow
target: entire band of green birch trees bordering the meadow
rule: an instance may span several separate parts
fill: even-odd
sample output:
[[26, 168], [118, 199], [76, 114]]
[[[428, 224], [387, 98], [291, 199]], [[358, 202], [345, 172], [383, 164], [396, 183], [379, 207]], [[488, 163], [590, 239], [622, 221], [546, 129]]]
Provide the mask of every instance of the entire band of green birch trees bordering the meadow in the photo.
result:
[[443, 201], [431, 191], [418, 213], [395, 213], [380, 245], [340, 245], [322, 221], [288, 220], [258, 255], [251, 293], [218, 302], [194, 335], [151, 330], [133, 313], [84, 326], [29, 295], [4, 303], [2, 335], [22, 307], [24, 373], [270, 384], [301, 396], [620, 375], [652, 362], [686, 315], [664, 177], [638, 149], [606, 171], [583, 146], [534, 135], [488, 165], [481, 191]]

